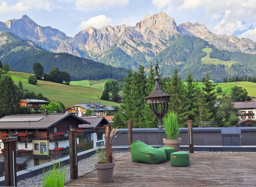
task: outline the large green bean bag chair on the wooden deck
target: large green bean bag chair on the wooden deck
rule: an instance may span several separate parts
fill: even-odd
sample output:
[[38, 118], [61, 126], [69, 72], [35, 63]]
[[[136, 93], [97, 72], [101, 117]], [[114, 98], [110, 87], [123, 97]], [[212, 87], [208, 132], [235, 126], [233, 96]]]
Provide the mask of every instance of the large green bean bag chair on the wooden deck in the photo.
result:
[[131, 144], [132, 162], [159, 164], [165, 162], [165, 150], [151, 147], [140, 140]]

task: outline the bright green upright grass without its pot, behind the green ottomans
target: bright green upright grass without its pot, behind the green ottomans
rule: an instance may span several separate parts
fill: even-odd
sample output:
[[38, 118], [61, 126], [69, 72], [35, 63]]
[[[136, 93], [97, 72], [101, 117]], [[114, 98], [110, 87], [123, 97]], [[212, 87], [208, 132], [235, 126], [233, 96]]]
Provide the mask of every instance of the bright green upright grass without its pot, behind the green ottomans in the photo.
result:
[[168, 113], [163, 117], [163, 128], [165, 128], [165, 134], [169, 140], [175, 140], [180, 133], [180, 128], [178, 124], [178, 117], [173, 111], [168, 111]]

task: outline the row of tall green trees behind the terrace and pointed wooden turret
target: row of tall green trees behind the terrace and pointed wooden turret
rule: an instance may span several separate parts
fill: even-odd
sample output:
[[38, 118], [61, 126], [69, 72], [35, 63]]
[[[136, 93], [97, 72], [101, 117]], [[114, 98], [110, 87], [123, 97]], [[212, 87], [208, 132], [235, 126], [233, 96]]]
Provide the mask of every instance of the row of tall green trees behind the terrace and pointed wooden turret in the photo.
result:
[[[182, 126], [187, 126], [187, 120], [193, 120], [195, 126], [202, 127], [204, 122], [213, 126], [235, 126], [238, 122], [236, 101], [250, 100], [246, 89], [233, 87], [230, 95], [220, 98], [221, 105], [215, 107], [217, 100], [210, 74], [206, 73], [203, 86], [199, 87], [192, 78], [191, 72], [182, 81], [175, 69], [171, 77], [163, 79], [160, 76], [160, 85], [165, 93], [171, 95], [169, 110], [178, 115]], [[123, 87], [123, 104], [113, 119], [114, 124], [125, 124], [132, 121], [134, 128], [156, 127], [157, 118], [150, 111], [145, 99], [154, 89], [154, 68], [150, 67], [148, 77], [143, 65], [138, 71], [129, 70]], [[125, 125], [124, 125], [125, 126]]]

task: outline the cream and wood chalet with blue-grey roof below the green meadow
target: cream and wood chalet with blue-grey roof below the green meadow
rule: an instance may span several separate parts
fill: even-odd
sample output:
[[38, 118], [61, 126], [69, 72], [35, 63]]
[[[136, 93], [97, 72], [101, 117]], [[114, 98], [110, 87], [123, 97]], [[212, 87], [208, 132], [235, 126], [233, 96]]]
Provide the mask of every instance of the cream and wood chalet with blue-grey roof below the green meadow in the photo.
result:
[[115, 110], [109, 106], [101, 104], [100, 102], [98, 103], [88, 102], [88, 104], [82, 103], [82, 104], [75, 104], [73, 106], [67, 107], [65, 109], [65, 113], [67, 114], [72, 113], [73, 115], [76, 115], [78, 117], [84, 117], [87, 109], [93, 110], [93, 114], [97, 116], [106, 116], [108, 111]]

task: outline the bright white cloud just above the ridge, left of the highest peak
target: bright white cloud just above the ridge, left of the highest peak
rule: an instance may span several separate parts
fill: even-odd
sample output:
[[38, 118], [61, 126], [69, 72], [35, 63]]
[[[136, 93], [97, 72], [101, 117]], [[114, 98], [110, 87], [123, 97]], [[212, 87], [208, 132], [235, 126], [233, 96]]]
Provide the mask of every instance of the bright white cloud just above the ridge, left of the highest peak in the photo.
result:
[[103, 26], [111, 25], [113, 20], [111, 18], [107, 18], [105, 15], [99, 15], [96, 17], [92, 17], [87, 21], [83, 21], [80, 25], [76, 28], [76, 30], [81, 31], [85, 30], [89, 26], [94, 28], [102, 28]]

